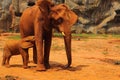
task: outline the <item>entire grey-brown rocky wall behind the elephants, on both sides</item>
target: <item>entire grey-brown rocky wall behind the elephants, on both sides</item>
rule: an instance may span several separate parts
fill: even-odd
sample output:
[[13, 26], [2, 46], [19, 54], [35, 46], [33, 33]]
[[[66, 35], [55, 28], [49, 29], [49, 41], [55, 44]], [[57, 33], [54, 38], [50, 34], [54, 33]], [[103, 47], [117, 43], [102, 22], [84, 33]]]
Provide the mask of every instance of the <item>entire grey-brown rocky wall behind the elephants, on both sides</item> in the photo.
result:
[[[0, 0], [0, 33], [19, 32], [19, 18], [24, 9], [30, 7], [28, 1]], [[73, 33], [120, 34], [120, 0], [52, 0], [55, 4], [65, 3], [78, 16], [72, 27]], [[16, 14], [12, 23], [9, 7], [12, 4]]]

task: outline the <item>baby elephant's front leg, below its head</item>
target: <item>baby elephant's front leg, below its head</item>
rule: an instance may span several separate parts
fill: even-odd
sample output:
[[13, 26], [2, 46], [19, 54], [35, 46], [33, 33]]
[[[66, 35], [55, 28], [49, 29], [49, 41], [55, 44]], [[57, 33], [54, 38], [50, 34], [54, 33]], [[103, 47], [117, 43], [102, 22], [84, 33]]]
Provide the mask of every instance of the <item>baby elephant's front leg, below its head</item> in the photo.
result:
[[28, 55], [28, 49], [21, 49], [21, 55], [23, 59], [23, 68], [28, 68], [28, 62], [29, 62], [29, 55]]

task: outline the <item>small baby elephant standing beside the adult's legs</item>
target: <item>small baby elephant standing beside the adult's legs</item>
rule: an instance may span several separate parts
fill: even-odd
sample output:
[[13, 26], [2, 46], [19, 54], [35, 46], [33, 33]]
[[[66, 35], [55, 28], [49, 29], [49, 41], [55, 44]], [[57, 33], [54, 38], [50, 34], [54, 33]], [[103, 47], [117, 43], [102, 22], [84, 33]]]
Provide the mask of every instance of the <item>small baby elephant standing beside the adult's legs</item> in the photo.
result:
[[3, 60], [2, 65], [10, 67], [9, 61], [13, 55], [22, 55], [23, 67], [28, 67], [29, 55], [27, 49], [34, 46], [34, 36], [28, 36], [21, 40], [8, 40], [3, 49]]

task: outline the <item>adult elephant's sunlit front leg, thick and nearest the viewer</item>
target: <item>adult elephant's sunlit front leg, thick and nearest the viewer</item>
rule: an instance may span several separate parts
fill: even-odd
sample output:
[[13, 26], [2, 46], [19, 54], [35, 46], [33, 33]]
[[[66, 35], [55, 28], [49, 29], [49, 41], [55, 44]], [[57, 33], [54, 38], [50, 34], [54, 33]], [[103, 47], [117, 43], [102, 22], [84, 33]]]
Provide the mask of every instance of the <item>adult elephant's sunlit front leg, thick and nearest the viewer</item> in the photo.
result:
[[39, 19], [37, 18], [35, 24], [35, 45], [37, 50], [37, 71], [45, 71], [45, 65], [44, 65], [44, 54], [43, 54], [43, 25], [44, 20], [42, 17]]

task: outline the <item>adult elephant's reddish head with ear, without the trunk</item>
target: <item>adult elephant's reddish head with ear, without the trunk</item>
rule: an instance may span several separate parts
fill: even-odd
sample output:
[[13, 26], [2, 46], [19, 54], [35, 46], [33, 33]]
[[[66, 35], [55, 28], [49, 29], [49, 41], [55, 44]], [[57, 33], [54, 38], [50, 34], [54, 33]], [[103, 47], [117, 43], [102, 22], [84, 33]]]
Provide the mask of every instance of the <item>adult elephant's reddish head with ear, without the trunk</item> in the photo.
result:
[[71, 11], [65, 4], [59, 4], [51, 8], [50, 18], [52, 24], [60, 32], [66, 32], [71, 29], [77, 21], [77, 15]]

